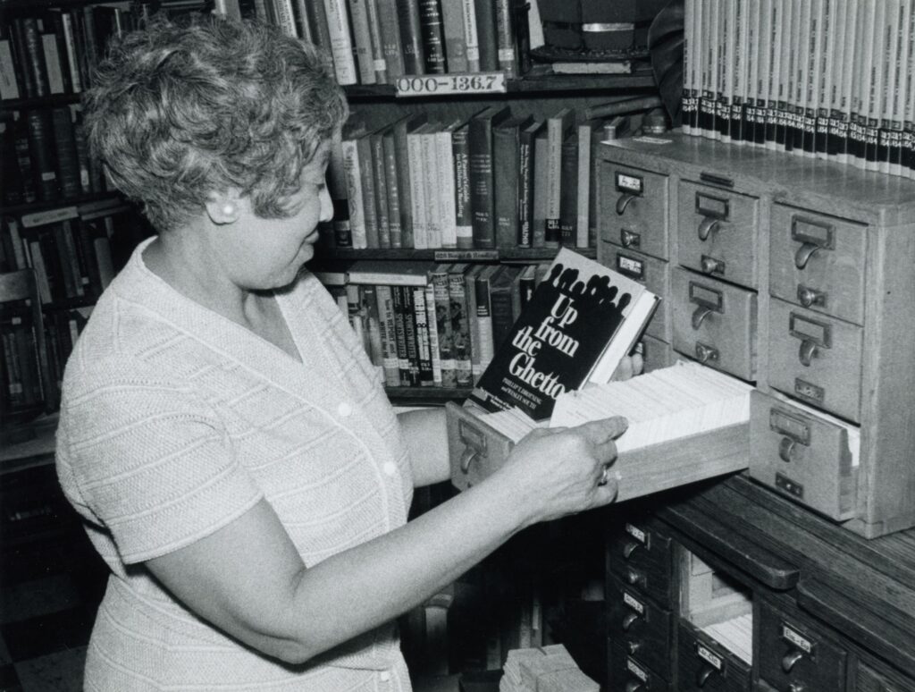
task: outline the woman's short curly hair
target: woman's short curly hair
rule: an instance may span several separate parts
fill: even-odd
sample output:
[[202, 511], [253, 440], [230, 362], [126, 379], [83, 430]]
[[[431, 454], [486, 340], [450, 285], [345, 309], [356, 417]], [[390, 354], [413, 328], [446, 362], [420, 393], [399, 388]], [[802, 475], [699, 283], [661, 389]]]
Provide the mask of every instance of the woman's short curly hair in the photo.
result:
[[288, 216], [302, 168], [349, 113], [318, 49], [220, 16], [156, 16], [115, 39], [83, 112], [93, 155], [160, 232], [230, 188], [262, 218]]

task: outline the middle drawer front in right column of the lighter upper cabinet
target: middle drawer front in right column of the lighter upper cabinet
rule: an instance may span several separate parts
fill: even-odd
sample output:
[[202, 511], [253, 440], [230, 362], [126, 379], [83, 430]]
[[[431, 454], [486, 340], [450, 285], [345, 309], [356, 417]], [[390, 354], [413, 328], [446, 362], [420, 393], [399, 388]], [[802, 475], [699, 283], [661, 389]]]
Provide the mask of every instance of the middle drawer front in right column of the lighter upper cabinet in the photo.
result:
[[857, 325], [772, 298], [769, 384], [860, 422], [862, 341]]

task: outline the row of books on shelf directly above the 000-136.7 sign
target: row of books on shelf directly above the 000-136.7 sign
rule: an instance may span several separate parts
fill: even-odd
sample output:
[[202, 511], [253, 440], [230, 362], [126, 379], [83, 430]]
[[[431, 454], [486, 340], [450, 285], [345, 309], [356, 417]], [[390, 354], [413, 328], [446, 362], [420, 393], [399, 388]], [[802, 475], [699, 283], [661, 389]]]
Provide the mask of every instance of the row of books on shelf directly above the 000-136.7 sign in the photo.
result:
[[514, 77], [527, 33], [517, 0], [217, 0], [216, 8], [318, 44], [340, 84], [493, 70]]

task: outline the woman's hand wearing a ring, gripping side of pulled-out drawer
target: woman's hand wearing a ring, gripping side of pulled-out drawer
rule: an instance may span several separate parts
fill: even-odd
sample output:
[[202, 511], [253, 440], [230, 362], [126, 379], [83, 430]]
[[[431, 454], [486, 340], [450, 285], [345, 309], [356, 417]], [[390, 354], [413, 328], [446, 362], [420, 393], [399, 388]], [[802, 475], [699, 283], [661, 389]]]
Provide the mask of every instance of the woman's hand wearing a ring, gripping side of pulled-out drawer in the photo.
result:
[[627, 425], [615, 416], [576, 427], [537, 428], [515, 445], [495, 476], [511, 488], [511, 503], [528, 517], [525, 524], [613, 502], [617, 483], [609, 467], [617, 457], [614, 440]]

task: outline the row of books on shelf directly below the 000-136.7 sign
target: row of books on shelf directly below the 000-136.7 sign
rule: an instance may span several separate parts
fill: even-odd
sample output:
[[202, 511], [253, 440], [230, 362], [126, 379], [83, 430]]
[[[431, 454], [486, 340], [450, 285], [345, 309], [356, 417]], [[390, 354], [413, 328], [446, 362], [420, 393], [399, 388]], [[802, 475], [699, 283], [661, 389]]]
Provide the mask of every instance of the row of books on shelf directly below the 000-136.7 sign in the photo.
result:
[[352, 248], [594, 247], [599, 142], [627, 118], [493, 105], [438, 122], [352, 120], [328, 171], [325, 242]]

